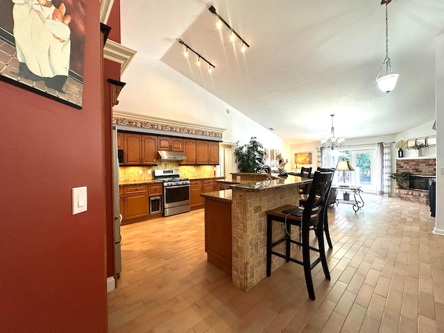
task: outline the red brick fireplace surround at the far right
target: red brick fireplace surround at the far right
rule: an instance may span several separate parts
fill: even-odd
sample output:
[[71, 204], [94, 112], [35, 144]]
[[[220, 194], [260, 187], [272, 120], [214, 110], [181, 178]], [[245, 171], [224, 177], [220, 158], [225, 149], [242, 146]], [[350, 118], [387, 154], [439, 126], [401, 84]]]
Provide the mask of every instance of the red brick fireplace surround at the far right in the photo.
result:
[[[396, 160], [396, 172], [409, 172], [411, 175], [436, 176], [436, 158], [416, 157], [398, 158]], [[402, 189], [395, 189], [395, 198], [429, 205], [429, 192], [409, 188], [409, 180], [401, 183]]]

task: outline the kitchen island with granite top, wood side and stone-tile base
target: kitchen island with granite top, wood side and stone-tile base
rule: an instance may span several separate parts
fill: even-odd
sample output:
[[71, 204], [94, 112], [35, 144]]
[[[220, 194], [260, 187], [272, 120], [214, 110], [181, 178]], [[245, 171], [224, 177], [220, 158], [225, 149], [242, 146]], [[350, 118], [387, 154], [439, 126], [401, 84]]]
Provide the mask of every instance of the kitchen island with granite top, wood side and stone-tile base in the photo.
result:
[[[299, 186], [312, 180], [287, 176], [257, 181], [245, 179], [241, 173], [237, 175], [241, 175], [241, 179], [237, 182], [237, 176], [233, 177], [231, 189], [201, 194], [205, 198], [205, 249], [213, 252], [208, 255], [210, 262], [214, 254], [224, 259], [223, 266], [214, 260], [212, 263], [223, 271], [227, 271], [226, 266], [231, 266], [232, 283], [247, 291], [266, 277], [266, 211], [282, 205], [298, 205]], [[246, 177], [251, 175], [247, 173]], [[263, 179], [263, 175], [260, 177]], [[222, 240], [210, 237], [211, 234], [207, 237], [207, 230], [212, 230], [212, 234], [224, 230], [220, 233]], [[227, 230], [231, 233], [228, 234]], [[296, 228], [293, 230], [297, 232]], [[273, 225], [273, 239], [282, 237], [284, 232], [280, 223]], [[213, 246], [214, 241], [219, 244]], [[230, 259], [228, 247], [231, 247], [231, 264], [227, 262]], [[273, 257], [272, 270], [283, 263], [284, 259]]]

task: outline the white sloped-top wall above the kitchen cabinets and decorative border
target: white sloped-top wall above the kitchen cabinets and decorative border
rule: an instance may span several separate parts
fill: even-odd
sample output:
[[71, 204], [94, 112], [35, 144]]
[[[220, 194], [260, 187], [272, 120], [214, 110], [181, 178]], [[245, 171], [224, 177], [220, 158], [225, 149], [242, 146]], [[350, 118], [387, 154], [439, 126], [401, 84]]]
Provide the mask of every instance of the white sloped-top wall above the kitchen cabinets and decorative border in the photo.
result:
[[[144, 76], [148, 89], [131, 85], [136, 76]], [[280, 149], [289, 158], [289, 145], [282, 139], [160, 60], [135, 56], [121, 80], [127, 84], [114, 110], [225, 128], [223, 142], [246, 144], [254, 136], [264, 148]], [[130, 110], [129, 101], [141, 98], [145, 100], [144, 110]]]

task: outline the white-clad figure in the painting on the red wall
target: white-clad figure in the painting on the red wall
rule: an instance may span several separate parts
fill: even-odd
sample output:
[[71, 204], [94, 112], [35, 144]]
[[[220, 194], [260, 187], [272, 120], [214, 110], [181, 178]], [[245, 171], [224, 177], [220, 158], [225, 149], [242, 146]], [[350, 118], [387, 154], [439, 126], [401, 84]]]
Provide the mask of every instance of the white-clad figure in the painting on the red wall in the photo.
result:
[[64, 3], [12, 0], [19, 75], [63, 91], [71, 54], [71, 16]]

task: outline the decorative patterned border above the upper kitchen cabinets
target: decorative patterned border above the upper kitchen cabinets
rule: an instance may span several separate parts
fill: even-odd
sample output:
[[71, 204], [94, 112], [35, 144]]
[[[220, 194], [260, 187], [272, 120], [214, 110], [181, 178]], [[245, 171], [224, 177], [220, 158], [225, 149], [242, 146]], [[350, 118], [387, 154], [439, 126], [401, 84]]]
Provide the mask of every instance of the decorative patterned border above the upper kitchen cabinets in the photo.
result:
[[135, 132], [165, 134], [185, 137], [210, 137], [215, 141], [222, 140], [222, 132], [192, 128], [191, 126], [171, 125], [168, 123], [157, 123], [155, 121], [142, 121], [122, 117], [112, 117], [112, 124], [121, 130], [135, 130]]

